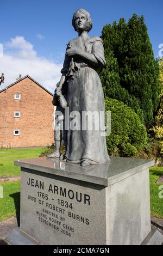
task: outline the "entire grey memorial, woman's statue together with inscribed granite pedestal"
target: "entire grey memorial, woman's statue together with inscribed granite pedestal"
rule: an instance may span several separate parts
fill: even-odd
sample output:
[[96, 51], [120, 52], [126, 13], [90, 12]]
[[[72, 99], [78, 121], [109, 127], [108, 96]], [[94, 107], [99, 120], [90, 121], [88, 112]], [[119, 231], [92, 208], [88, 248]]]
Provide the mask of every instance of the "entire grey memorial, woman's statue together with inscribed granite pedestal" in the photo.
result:
[[160, 244], [162, 235], [151, 233], [149, 167], [154, 161], [109, 158], [96, 119], [92, 129], [84, 126], [83, 112], [105, 110], [96, 72], [105, 58], [101, 38], [87, 34], [92, 22], [86, 10], [74, 13], [72, 25], [79, 36], [67, 44], [56, 94], [70, 118], [79, 113], [76, 129], [64, 127], [65, 159], [52, 154], [15, 161], [21, 166], [20, 228], [6, 239], [14, 245]]

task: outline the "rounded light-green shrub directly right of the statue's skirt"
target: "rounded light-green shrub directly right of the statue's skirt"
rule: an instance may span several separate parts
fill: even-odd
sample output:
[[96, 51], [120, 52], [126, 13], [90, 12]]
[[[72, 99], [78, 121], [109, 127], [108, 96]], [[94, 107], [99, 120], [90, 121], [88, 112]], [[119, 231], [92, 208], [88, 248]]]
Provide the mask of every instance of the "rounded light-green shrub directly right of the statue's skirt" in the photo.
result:
[[111, 111], [111, 134], [106, 137], [109, 155], [135, 155], [147, 142], [139, 116], [123, 102], [109, 98], [105, 99], [105, 111]]

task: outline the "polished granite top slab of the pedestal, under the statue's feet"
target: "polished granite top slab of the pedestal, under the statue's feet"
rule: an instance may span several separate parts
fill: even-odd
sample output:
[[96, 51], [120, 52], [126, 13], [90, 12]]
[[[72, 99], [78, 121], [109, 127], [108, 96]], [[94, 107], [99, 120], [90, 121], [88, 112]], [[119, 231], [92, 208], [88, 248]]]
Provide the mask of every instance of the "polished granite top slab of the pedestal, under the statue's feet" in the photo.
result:
[[39, 172], [55, 174], [66, 178], [86, 181], [103, 186], [110, 186], [154, 165], [154, 161], [110, 157], [110, 162], [101, 165], [80, 166], [68, 164], [59, 159], [39, 157], [37, 159], [17, 160], [16, 166]]

